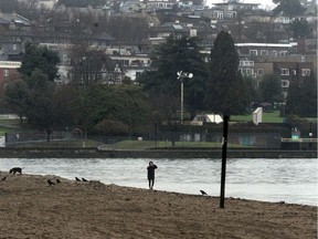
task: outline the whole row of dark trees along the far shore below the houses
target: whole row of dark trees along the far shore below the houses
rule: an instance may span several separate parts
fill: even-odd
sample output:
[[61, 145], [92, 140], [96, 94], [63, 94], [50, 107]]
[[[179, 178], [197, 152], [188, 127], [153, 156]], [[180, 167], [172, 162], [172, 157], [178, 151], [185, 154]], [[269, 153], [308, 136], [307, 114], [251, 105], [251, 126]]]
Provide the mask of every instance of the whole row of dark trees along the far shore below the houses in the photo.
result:
[[[78, 127], [85, 134], [134, 135], [149, 132], [153, 123], [173, 126], [180, 121], [180, 80], [186, 121], [199, 113], [247, 114], [253, 101], [283, 102], [276, 75], [265, 75], [257, 86], [241, 74], [230, 33], [218, 34], [210, 54], [201, 50], [198, 38], [169, 37], [152, 51], [155, 71], [145, 72], [136, 83], [126, 80], [116, 84], [114, 77], [118, 75], [107, 55], [75, 45], [70, 54], [71, 82], [56, 84], [57, 53], [29, 43], [19, 77], [6, 85], [6, 101], [21, 121], [26, 118], [32, 127], [44, 129], [47, 141], [53, 129], [65, 127]], [[178, 72], [192, 73], [193, 77], [180, 79]], [[295, 81], [286, 114], [317, 116], [315, 85], [314, 75]]]

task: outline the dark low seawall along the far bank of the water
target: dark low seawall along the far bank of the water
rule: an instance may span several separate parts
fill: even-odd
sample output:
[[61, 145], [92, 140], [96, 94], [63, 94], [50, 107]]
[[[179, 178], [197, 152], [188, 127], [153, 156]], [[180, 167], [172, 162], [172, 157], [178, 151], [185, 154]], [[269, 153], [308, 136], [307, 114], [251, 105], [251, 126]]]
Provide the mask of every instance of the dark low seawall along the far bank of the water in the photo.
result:
[[[0, 158], [221, 158], [221, 149], [0, 148]], [[227, 158], [317, 158], [317, 150], [227, 149]]]

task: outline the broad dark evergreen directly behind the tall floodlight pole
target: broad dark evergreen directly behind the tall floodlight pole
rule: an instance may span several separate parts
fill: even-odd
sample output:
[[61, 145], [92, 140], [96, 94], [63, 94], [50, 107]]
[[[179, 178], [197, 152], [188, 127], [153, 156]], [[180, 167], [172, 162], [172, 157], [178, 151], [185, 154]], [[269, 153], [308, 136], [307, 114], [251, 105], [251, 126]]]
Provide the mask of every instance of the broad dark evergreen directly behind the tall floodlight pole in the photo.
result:
[[[206, 79], [206, 63], [200, 53], [199, 39], [169, 37], [152, 52], [152, 66], [156, 71], [146, 72], [137, 82], [142, 84], [144, 91], [155, 98], [159, 95], [180, 97], [180, 80], [177, 73], [188, 72], [194, 76], [183, 79], [184, 108], [191, 115], [203, 108], [204, 81]], [[168, 105], [167, 105], [168, 107]]]

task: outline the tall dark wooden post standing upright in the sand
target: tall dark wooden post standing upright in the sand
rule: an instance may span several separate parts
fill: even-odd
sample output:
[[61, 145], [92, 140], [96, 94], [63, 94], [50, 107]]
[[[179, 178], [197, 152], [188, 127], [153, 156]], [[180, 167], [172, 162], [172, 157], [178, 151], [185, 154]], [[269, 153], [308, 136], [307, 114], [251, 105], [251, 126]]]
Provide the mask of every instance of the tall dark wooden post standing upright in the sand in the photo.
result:
[[224, 208], [225, 200], [225, 173], [226, 173], [226, 148], [227, 148], [227, 127], [230, 116], [223, 117], [223, 144], [222, 144], [222, 168], [221, 168], [221, 196], [220, 208]]

